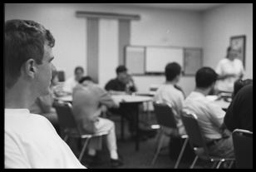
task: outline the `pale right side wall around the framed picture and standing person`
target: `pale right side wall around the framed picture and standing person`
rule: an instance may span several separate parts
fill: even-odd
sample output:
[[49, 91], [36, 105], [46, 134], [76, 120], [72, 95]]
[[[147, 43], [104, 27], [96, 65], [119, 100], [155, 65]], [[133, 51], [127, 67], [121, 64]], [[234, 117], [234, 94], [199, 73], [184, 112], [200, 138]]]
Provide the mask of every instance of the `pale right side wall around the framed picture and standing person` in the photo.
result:
[[246, 35], [244, 78], [253, 78], [253, 4], [226, 4], [203, 13], [204, 66], [216, 67], [229, 37]]

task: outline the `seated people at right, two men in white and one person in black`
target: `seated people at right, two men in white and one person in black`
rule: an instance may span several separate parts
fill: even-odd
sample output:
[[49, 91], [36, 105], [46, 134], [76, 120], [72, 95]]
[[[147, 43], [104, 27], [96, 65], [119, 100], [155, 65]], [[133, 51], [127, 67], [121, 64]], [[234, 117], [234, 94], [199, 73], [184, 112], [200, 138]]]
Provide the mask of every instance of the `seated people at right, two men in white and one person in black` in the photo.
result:
[[182, 111], [197, 115], [198, 123], [209, 155], [234, 158], [234, 146], [231, 132], [235, 129], [253, 131], [253, 81], [234, 82], [233, 101], [227, 111], [214, 104], [206, 96], [214, 89], [219, 75], [210, 67], [202, 67], [195, 74], [194, 91], [185, 97], [175, 88], [180, 81], [181, 67], [172, 62], [165, 67], [166, 82], [156, 91], [155, 101], [172, 108], [178, 130], [170, 129], [170, 134], [186, 133], [181, 120]]

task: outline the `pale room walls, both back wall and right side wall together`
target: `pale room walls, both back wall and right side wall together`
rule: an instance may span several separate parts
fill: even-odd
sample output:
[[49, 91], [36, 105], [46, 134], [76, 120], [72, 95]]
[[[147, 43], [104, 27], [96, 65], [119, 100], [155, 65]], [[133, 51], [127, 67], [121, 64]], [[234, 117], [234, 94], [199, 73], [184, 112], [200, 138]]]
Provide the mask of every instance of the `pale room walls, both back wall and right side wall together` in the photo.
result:
[[[227, 4], [206, 12], [186, 12], [142, 7], [121, 7], [99, 4], [5, 4], [5, 20], [13, 18], [31, 19], [41, 22], [56, 38], [54, 64], [66, 71], [66, 77], [73, 75], [76, 66], [86, 70], [86, 20], [77, 18], [76, 11], [119, 12], [139, 14], [140, 21], [131, 22], [130, 44], [143, 46], [203, 47], [204, 66], [215, 67], [224, 57], [229, 37], [245, 34], [246, 75], [253, 77], [253, 5]], [[103, 44], [102, 44], [103, 45]], [[106, 51], [101, 49], [101, 51]], [[111, 56], [111, 53], [113, 56]], [[116, 53], [101, 58], [99, 66], [115, 66]], [[116, 62], [115, 62], [116, 61]], [[113, 75], [109, 72], [108, 76]], [[102, 78], [102, 71], [100, 70]], [[104, 78], [108, 80], [110, 78]], [[139, 91], [148, 91], [150, 84], [160, 84], [164, 76], [135, 76]], [[180, 86], [188, 94], [194, 89], [194, 77], [185, 76]]]

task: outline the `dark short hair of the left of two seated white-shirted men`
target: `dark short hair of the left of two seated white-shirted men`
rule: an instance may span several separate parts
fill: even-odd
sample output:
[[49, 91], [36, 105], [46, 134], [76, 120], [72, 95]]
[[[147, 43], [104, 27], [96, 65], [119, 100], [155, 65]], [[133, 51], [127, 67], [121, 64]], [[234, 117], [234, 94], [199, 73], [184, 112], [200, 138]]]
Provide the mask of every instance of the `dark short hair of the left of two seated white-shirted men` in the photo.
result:
[[171, 62], [165, 66], [166, 81], [173, 81], [180, 73], [181, 66], [177, 62]]

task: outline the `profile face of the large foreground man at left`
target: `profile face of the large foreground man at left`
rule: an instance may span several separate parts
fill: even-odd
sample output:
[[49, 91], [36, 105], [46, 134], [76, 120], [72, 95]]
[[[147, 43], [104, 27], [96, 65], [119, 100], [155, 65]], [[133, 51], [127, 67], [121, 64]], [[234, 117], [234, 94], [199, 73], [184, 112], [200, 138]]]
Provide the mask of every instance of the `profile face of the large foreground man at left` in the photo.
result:
[[44, 96], [50, 93], [53, 58], [52, 47], [49, 47], [47, 43], [45, 43], [42, 64], [37, 65], [37, 73], [35, 77], [38, 93], [40, 96]]

